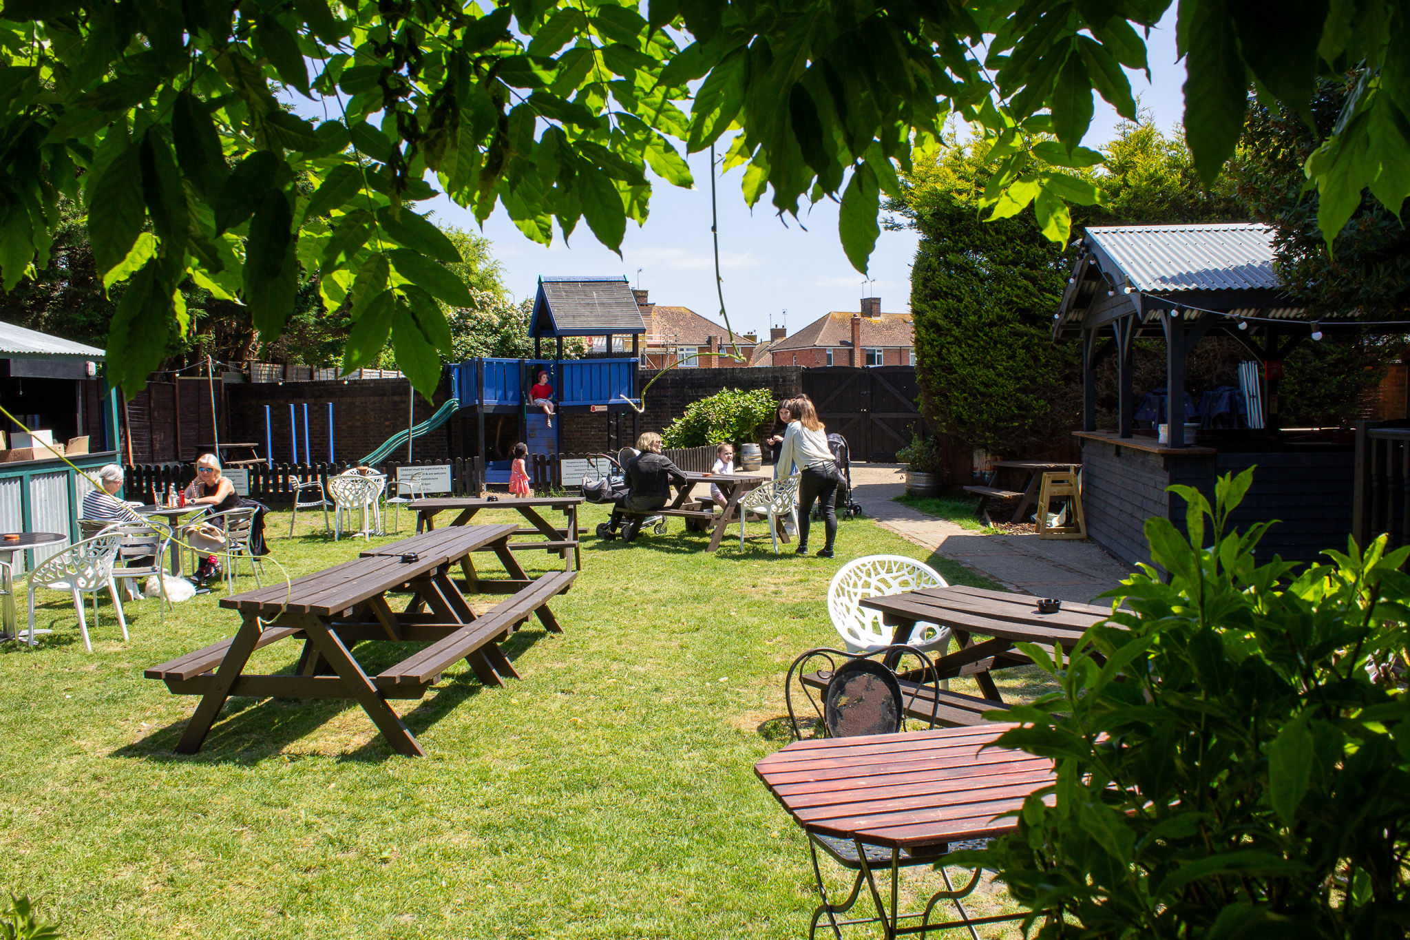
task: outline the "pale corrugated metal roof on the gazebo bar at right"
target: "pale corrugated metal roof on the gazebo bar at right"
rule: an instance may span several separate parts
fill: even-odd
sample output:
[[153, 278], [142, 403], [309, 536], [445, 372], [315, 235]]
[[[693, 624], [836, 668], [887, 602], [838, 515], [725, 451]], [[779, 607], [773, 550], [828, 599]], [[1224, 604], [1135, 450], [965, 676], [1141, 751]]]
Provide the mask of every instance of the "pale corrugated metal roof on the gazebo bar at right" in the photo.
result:
[[1141, 292], [1282, 287], [1273, 230], [1256, 223], [1100, 225], [1087, 230], [1087, 241]]

